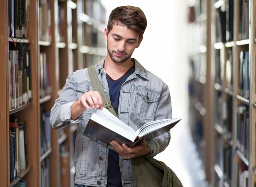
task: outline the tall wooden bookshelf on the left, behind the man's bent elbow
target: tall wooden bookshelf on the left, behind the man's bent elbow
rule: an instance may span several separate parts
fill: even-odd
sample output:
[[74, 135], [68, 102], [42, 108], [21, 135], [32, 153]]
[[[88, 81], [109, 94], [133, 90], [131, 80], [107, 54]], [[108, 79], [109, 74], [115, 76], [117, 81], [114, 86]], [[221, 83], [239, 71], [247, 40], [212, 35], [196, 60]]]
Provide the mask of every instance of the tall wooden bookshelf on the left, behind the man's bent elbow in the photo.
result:
[[[42, 133], [41, 109], [50, 112], [70, 73], [97, 63], [96, 61], [104, 55], [101, 51], [106, 47], [103, 37], [104, 8], [99, 0], [88, 0], [90, 3], [85, 0], [48, 0], [47, 5], [41, 0], [30, 1], [27, 37], [10, 38], [8, 22], [8, 3], [10, 2], [10, 0], [4, 0], [0, 7], [2, 18], [0, 20], [0, 60], [1, 62], [9, 61], [9, 50], [15, 50], [15, 44], [30, 51], [29, 78], [32, 100], [17, 108], [9, 106], [9, 89], [12, 86], [9, 83], [9, 75], [12, 76], [12, 74], [9, 71], [9, 63], [0, 63], [2, 80], [0, 82], [2, 88], [0, 90], [0, 151], [4, 153], [0, 156], [0, 179], [3, 186], [8, 187], [15, 186], [20, 180], [26, 180], [28, 187], [43, 187], [47, 185], [46, 183], [49, 186], [72, 187], [75, 175], [74, 142], [78, 127], [73, 125], [61, 131], [50, 128], [50, 133], [46, 133], [51, 134], [50, 143], [42, 152], [41, 141], [46, 134]], [[47, 8], [44, 9], [45, 7]], [[81, 14], [87, 15], [88, 12], [94, 12], [89, 16], [92, 22], [87, 23], [79, 19]], [[61, 20], [59, 20], [60, 14]], [[87, 25], [97, 29], [84, 32], [83, 28]], [[95, 38], [94, 43], [87, 41], [92, 35]], [[87, 46], [90, 51], [81, 52], [80, 49], [83, 46]], [[28, 160], [27, 167], [20, 169], [18, 175], [11, 181], [10, 115], [17, 115], [18, 121], [26, 123]], [[66, 174], [61, 173], [63, 170]]]

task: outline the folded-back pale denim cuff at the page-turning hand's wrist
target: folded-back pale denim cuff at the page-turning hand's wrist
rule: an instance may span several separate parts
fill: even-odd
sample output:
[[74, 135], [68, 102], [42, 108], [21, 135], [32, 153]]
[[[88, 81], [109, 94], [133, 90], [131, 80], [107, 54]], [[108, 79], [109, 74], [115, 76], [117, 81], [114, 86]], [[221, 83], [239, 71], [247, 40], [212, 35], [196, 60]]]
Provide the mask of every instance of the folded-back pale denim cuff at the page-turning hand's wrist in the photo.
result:
[[71, 118], [71, 106], [74, 102], [75, 101], [64, 104], [61, 109], [60, 119], [61, 119], [61, 121], [66, 121], [66, 123], [69, 125], [79, 123], [83, 119], [83, 117], [82, 117], [83, 114], [76, 120], [70, 119]]

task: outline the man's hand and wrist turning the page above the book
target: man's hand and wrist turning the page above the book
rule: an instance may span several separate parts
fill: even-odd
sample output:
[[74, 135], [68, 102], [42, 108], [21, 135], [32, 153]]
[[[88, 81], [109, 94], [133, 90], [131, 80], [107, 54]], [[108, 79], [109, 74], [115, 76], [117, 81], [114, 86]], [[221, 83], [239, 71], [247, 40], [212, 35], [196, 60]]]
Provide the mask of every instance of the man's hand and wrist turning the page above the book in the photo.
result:
[[102, 98], [98, 91], [88, 91], [72, 104], [71, 119], [76, 120], [83, 114], [85, 109], [89, 109], [89, 107], [93, 109], [103, 109]]

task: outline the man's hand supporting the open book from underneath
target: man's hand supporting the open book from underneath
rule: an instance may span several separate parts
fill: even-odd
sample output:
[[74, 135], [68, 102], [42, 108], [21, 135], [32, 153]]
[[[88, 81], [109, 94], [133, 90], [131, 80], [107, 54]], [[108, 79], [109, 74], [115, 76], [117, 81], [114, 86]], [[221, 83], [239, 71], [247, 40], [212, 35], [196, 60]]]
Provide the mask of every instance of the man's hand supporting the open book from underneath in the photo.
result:
[[149, 155], [151, 153], [151, 149], [147, 145], [145, 138], [140, 141], [139, 145], [136, 145], [133, 148], [127, 147], [124, 143], [120, 145], [115, 141], [110, 142], [110, 145], [117, 153], [119, 153], [125, 159]]

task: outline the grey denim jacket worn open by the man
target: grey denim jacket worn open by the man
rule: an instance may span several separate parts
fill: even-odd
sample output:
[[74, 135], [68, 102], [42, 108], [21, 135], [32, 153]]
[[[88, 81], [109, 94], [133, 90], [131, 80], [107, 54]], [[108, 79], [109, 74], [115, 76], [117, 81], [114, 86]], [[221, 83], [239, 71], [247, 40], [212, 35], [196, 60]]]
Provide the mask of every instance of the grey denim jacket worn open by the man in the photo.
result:
[[[171, 97], [168, 86], [134, 58], [134, 72], [127, 78], [120, 89], [118, 117], [134, 130], [141, 125], [158, 119], [171, 118]], [[104, 59], [95, 67], [104, 92], [109, 97], [106, 73], [103, 69]], [[106, 186], [108, 167], [108, 148], [83, 135], [86, 124], [97, 109], [86, 109], [75, 121], [70, 119], [71, 105], [86, 91], [93, 90], [87, 68], [71, 73], [62, 93], [51, 109], [50, 123], [60, 130], [79, 123], [75, 141], [75, 183], [87, 186]], [[170, 132], [158, 136], [147, 145], [154, 157], [165, 150], [170, 142]], [[136, 187], [132, 174], [131, 161], [119, 155], [119, 165], [124, 187]]]

